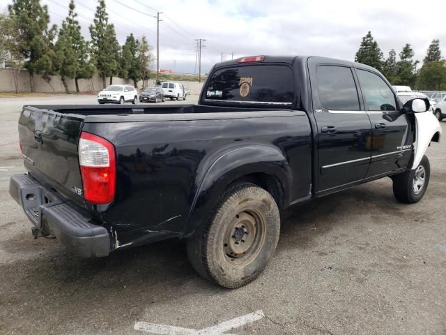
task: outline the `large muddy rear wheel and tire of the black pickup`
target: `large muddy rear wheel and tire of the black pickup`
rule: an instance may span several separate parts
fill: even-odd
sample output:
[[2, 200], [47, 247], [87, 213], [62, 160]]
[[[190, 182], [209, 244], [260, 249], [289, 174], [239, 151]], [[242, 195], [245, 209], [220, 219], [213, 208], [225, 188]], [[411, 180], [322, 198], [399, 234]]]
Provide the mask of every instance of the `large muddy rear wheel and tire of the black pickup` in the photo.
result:
[[272, 195], [254, 184], [238, 184], [225, 191], [208, 224], [187, 240], [187, 255], [204, 278], [224, 288], [240, 288], [261, 274], [279, 232], [279, 209]]

